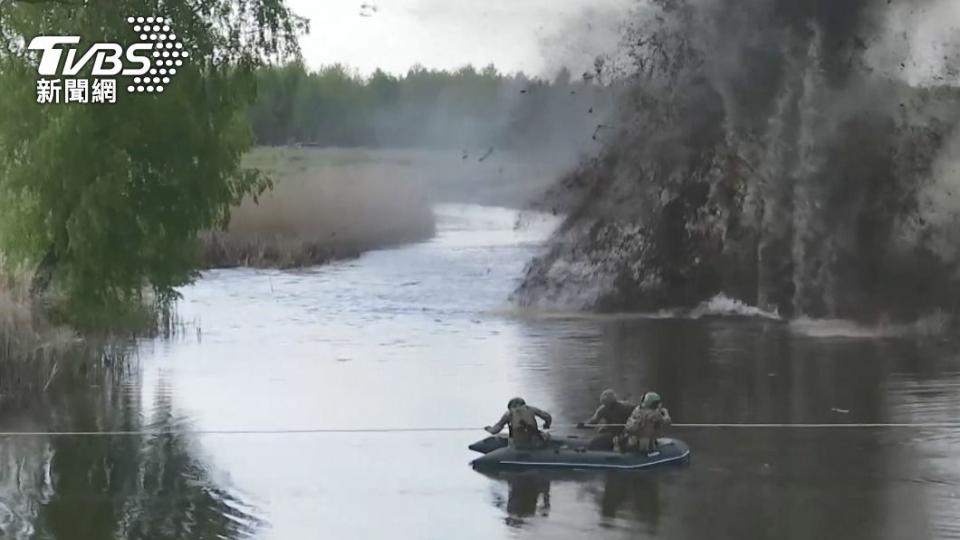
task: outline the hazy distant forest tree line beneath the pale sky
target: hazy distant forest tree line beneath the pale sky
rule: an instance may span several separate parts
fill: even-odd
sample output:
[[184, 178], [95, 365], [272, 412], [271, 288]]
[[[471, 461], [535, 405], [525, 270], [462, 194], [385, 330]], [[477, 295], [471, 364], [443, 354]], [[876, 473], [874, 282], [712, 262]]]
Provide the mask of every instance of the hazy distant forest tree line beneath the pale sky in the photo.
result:
[[542, 147], [589, 139], [611, 100], [567, 71], [546, 81], [493, 66], [361, 77], [341, 65], [290, 63], [261, 68], [258, 82], [250, 114], [261, 145]]

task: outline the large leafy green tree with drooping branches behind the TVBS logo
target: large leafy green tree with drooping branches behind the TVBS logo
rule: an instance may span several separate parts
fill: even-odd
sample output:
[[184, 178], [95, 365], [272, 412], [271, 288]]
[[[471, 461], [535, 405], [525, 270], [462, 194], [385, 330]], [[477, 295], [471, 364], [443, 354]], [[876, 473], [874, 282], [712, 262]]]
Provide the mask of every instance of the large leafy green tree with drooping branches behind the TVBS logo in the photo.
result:
[[[140, 15], [167, 18], [191, 53], [162, 94], [36, 103], [34, 36], [132, 43]], [[197, 233], [269, 186], [240, 164], [254, 74], [296, 57], [305, 28], [282, 0], [0, 0], [0, 251], [37, 265], [35, 291], [61, 292], [76, 323], [147, 287], [169, 301], [194, 276]]]

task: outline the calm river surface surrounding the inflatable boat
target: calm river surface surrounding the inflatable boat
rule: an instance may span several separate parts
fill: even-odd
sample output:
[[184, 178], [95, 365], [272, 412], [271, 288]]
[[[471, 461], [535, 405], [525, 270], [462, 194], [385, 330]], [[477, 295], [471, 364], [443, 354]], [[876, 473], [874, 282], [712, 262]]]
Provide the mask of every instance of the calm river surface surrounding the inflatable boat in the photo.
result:
[[[474, 472], [514, 395], [558, 424], [656, 389], [682, 423], [930, 423], [957, 353], [762, 317], [583, 316], [506, 299], [552, 221], [437, 208], [438, 234], [303, 271], [207, 272], [176, 337], [128, 370], [6, 411], [11, 538], [960, 538], [960, 431], [677, 428], [688, 467]], [[519, 226], [518, 226], [519, 225]], [[364, 429], [364, 433], [198, 433]]]

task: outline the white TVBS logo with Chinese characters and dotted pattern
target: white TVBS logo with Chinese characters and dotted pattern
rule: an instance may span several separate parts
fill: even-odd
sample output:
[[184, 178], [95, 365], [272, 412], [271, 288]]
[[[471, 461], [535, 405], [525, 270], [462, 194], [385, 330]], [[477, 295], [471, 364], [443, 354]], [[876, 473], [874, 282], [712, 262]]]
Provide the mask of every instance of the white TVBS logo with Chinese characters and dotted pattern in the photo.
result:
[[[129, 93], [162, 93], [190, 53], [163, 17], [128, 17], [140, 40], [126, 47], [94, 43], [81, 53], [80, 36], [37, 36], [37, 103], [116, 103], [117, 79]], [[78, 78], [89, 71], [92, 78]], [[51, 77], [51, 78], [48, 78]]]

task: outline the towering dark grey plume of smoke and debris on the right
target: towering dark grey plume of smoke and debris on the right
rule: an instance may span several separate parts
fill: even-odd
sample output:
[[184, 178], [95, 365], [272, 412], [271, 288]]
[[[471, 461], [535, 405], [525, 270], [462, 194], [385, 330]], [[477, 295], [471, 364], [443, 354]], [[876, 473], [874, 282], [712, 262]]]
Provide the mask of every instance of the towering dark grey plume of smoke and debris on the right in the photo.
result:
[[958, 48], [943, 22], [956, 13], [945, 0], [638, 5], [621, 122], [579, 173], [580, 217], [645, 231], [600, 303], [956, 309], [960, 92], [944, 85]]

